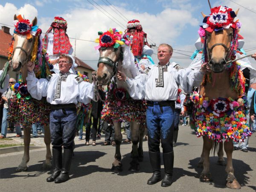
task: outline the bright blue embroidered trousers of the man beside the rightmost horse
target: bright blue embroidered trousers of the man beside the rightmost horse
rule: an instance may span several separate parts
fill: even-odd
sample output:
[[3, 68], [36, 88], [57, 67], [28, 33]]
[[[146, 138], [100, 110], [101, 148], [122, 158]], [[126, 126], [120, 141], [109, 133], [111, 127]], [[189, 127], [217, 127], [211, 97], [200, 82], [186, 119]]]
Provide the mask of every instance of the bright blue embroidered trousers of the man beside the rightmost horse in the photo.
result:
[[148, 149], [151, 152], [160, 151], [160, 140], [163, 153], [173, 151], [172, 140], [174, 130], [174, 107], [160, 107], [157, 102], [154, 106], [148, 106], [147, 113], [148, 127]]

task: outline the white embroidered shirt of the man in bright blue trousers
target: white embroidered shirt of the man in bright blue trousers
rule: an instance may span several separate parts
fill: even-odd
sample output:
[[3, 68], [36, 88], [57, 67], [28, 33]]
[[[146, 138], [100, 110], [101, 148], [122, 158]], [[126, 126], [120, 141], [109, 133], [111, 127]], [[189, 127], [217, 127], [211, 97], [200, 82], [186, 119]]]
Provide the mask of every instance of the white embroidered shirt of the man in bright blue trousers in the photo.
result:
[[199, 70], [182, 69], [172, 62], [166, 67], [152, 65], [148, 75], [140, 74], [134, 79], [127, 78], [125, 82], [131, 98], [157, 102], [176, 101], [179, 85], [184, 92], [190, 93], [193, 86], [201, 84], [202, 79], [203, 73]]

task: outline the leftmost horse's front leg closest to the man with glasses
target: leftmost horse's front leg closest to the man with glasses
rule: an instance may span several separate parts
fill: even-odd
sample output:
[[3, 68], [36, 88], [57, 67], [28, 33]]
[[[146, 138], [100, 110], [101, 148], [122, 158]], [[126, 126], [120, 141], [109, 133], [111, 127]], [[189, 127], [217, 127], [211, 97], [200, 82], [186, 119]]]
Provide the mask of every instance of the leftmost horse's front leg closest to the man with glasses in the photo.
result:
[[52, 157], [51, 148], [50, 148], [51, 133], [50, 133], [49, 126], [44, 127], [44, 143], [46, 145], [46, 158], [45, 158], [45, 162], [42, 165], [42, 169], [49, 170], [49, 169], [52, 169], [52, 163], [50, 161]]

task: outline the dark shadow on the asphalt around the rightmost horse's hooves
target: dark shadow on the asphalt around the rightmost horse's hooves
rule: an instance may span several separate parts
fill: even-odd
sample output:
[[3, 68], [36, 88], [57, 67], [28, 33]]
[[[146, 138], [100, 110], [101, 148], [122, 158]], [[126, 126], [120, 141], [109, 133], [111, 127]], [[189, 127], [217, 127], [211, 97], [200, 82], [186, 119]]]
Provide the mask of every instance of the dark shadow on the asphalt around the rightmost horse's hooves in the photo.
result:
[[[212, 174], [212, 182], [209, 182], [209, 185], [213, 185], [217, 188], [226, 188], [226, 179], [227, 179], [227, 173], [225, 171], [226, 166], [219, 166], [217, 164], [218, 157], [209, 157], [210, 159], [210, 172]], [[227, 158], [224, 158], [227, 162]], [[197, 157], [193, 160], [189, 160], [189, 169], [195, 169], [195, 171], [198, 173], [195, 177], [199, 177], [203, 169], [198, 168], [198, 162], [200, 160], [200, 157]], [[234, 173], [236, 176], [236, 179], [240, 183], [241, 186], [245, 186], [248, 184], [248, 181], [250, 181], [250, 177], [248, 177], [248, 171], [253, 171], [250, 166], [242, 160], [233, 159], [233, 168]], [[250, 186], [249, 186], [250, 187]], [[252, 186], [252, 189], [255, 189], [255, 187]]]

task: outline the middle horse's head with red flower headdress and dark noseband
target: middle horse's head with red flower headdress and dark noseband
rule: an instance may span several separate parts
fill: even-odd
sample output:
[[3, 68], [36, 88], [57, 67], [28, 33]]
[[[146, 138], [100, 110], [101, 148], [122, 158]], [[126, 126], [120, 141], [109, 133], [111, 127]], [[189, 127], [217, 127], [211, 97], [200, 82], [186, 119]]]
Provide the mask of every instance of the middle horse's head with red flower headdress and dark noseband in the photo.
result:
[[[99, 32], [99, 61], [96, 73], [99, 85], [107, 85], [116, 74], [118, 63], [122, 63], [122, 47], [125, 40], [121, 38], [122, 32], [116, 29], [110, 29], [107, 32]], [[122, 40], [122, 41], [121, 41]], [[128, 43], [128, 42], [126, 42]], [[128, 43], [129, 44], [129, 43]]]

